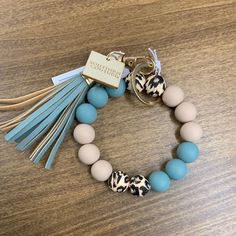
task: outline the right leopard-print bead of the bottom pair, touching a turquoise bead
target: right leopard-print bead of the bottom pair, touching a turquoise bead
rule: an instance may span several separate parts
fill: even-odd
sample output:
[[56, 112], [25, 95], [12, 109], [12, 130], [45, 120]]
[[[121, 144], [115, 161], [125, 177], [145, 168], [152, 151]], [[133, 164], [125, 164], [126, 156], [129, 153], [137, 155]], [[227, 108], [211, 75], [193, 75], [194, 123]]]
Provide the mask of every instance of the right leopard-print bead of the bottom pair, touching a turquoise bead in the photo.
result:
[[151, 186], [143, 175], [136, 175], [130, 179], [129, 188], [133, 195], [143, 197], [148, 193]]

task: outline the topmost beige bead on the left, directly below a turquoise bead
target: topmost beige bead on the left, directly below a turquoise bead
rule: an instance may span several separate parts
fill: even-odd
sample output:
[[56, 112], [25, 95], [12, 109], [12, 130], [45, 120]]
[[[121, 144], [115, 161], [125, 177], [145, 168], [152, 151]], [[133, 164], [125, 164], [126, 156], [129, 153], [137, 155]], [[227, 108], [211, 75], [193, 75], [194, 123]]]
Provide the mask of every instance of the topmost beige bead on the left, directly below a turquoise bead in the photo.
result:
[[74, 139], [77, 143], [91, 143], [95, 138], [95, 130], [91, 125], [79, 124], [74, 129]]

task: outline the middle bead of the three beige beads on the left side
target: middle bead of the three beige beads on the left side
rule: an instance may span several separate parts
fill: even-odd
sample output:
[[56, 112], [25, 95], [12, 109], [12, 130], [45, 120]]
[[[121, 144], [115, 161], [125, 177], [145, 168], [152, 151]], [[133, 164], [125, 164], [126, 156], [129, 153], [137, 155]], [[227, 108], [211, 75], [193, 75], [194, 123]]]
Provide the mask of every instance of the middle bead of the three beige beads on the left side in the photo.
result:
[[100, 151], [95, 144], [85, 144], [79, 149], [78, 157], [84, 164], [92, 165], [99, 159]]

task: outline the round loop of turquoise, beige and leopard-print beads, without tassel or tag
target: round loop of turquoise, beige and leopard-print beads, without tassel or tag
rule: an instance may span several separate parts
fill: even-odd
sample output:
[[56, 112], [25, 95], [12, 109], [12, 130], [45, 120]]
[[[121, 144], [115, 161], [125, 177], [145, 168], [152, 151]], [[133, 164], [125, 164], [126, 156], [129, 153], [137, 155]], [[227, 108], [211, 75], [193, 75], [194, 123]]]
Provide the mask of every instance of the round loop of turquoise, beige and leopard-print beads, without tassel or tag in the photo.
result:
[[[202, 129], [194, 120], [197, 116], [196, 107], [184, 101], [184, 93], [176, 85], [169, 86], [163, 91], [162, 101], [175, 108], [175, 118], [182, 123], [180, 136], [184, 140], [178, 145], [176, 159], [167, 161], [165, 170], [153, 170], [147, 177], [141, 174], [130, 177], [121, 170], [113, 170], [112, 165], [106, 160], [100, 160], [99, 148], [92, 144], [95, 131], [92, 124], [97, 117], [97, 108], [104, 107], [109, 97], [120, 97], [127, 87], [130, 90], [129, 75], [121, 80], [117, 89], [103, 86], [92, 87], [88, 94], [88, 103], [81, 104], [76, 111], [77, 120], [82, 123], [74, 130], [75, 140], [83, 144], [78, 152], [78, 158], [86, 165], [91, 165], [91, 174], [98, 181], [107, 181], [109, 188], [114, 192], [125, 192], [127, 189], [133, 195], [144, 196], [150, 189], [155, 192], [165, 192], [169, 189], [171, 180], [181, 180], [187, 174], [186, 163], [194, 162], [199, 156], [199, 149], [194, 142], [202, 136]], [[136, 77], [136, 89], [143, 90], [142, 77]], [[126, 83], [125, 83], [126, 81]], [[127, 86], [126, 86], [127, 85]]]

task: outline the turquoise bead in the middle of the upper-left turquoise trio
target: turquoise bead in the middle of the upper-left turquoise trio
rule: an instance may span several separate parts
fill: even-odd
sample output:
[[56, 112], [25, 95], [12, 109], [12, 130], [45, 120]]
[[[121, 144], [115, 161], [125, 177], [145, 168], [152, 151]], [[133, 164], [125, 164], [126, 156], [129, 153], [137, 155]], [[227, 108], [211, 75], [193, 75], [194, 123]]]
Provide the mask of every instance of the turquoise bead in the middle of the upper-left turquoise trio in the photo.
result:
[[87, 99], [96, 108], [102, 108], [108, 102], [108, 94], [101, 86], [94, 86], [88, 91]]

